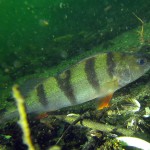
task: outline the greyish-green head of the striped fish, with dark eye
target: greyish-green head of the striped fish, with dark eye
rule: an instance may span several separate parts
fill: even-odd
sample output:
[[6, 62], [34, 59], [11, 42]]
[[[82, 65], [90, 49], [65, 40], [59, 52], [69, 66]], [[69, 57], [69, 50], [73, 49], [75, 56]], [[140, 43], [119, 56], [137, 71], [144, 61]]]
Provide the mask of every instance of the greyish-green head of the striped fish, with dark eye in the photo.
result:
[[115, 76], [120, 87], [131, 83], [144, 75], [150, 69], [150, 56], [136, 54], [121, 54], [117, 58]]

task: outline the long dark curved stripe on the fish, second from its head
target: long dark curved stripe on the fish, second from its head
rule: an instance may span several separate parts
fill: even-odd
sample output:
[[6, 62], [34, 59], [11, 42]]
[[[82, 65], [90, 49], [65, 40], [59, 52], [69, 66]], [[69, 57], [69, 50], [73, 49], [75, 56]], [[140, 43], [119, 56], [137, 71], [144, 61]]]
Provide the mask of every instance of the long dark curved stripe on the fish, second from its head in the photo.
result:
[[92, 57], [86, 60], [85, 73], [86, 73], [88, 82], [92, 85], [92, 87], [96, 91], [99, 91], [100, 85], [99, 85], [99, 81], [95, 72], [95, 57]]

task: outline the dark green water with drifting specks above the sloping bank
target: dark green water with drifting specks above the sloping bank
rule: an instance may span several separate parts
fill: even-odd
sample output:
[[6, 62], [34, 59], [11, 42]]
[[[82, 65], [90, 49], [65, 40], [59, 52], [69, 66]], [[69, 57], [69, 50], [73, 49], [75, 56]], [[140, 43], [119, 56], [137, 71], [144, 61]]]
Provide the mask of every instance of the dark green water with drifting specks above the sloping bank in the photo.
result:
[[132, 12], [148, 22], [149, 8], [149, 0], [0, 0], [1, 86], [139, 26]]

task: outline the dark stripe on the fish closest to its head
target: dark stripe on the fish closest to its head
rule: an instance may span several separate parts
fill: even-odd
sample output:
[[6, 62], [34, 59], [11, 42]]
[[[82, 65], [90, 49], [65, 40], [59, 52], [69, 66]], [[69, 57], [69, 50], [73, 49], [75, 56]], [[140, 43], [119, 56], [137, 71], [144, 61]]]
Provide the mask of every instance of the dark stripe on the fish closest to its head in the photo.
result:
[[107, 53], [107, 71], [110, 77], [113, 77], [114, 75], [114, 69], [116, 67], [115, 61], [114, 61], [114, 54], [112, 52]]

